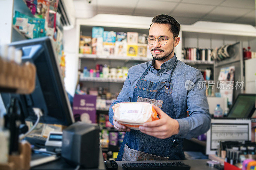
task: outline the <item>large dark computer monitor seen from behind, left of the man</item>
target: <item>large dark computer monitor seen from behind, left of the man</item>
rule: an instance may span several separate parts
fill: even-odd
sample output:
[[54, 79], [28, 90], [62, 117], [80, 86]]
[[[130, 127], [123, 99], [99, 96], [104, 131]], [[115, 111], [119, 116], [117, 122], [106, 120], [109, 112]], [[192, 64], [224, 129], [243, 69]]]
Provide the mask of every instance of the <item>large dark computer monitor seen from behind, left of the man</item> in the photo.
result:
[[63, 79], [52, 39], [49, 37], [17, 41], [10, 44], [23, 52], [22, 62], [31, 62], [36, 66], [36, 88], [29, 95], [1, 93], [5, 107], [12, 96], [21, 103], [27, 121], [36, 122], [37, 116], [33, 108], [43, 112], [41, 123], [71, 125], [74, 122], [73, 113], [64, 88]]

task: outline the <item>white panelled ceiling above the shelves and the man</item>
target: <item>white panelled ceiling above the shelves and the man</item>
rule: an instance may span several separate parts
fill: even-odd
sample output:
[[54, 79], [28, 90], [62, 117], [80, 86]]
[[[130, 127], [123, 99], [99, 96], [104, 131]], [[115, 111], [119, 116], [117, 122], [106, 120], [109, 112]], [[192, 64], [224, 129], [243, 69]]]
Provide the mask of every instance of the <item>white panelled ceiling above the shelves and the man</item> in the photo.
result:
[[180, 24], [214, 21], [255, 26], [255, 0], [73, 0], [76, 18], [99, 13], [154, 17], [167, 14]]

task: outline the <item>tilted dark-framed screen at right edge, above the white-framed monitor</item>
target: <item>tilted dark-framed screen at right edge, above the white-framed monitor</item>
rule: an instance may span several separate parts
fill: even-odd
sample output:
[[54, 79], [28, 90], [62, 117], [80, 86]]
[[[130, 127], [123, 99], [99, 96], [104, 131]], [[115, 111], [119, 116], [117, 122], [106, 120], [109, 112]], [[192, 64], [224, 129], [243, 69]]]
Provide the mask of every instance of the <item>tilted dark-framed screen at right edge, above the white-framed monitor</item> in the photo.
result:
[[251, 118], [255, 111], [256, 94], [238, 94], [228, 118]]

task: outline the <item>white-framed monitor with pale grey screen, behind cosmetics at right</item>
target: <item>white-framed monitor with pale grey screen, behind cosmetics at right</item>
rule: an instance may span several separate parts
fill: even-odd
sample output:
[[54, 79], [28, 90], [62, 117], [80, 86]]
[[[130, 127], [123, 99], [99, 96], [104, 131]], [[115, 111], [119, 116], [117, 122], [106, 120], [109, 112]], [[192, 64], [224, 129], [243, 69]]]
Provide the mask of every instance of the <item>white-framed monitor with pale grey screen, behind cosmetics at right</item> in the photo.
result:
[[206, 154], [215, 154], [219, 141], [250, 141], [251, 120], [212, 119], [206, 138]]

